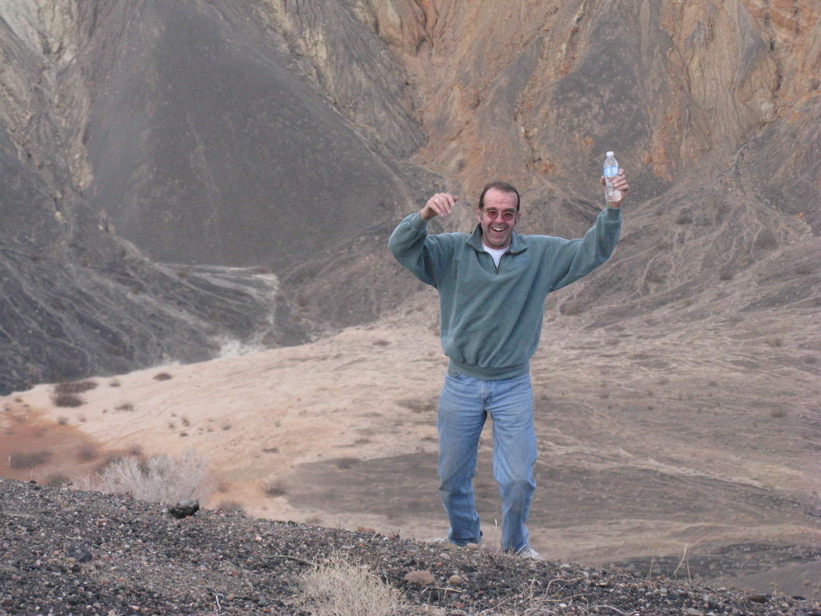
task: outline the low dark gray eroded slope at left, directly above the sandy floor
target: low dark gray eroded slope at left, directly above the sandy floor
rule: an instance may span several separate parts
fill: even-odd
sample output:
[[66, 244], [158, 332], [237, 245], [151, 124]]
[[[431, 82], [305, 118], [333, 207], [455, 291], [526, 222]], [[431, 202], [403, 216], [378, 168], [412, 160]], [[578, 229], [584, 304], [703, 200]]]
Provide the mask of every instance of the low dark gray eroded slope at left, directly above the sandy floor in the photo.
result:
[[224, 342], [305, 342], [275, 277], [152, 264], [104, 231], [79, 196], [61, 195], [65, 214], [58, 213], [47, 184], [2, 137], [0, 395], [43, 381], [204, 361]]

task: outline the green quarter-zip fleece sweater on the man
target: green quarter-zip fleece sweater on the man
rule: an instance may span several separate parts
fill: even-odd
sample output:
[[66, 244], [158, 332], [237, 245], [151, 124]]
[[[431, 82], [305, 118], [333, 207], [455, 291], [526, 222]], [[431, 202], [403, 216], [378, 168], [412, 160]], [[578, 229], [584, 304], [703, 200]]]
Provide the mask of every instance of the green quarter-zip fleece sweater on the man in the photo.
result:
[[539, 345], [544, 298], [608, 260], [621, 211], [604, 209], [583, 239], [519, 235], [499, 267], [473, 233], [428, 235], [419, 213], [404, 218], [388, 247], [423, 283], [439, 291], [439, 331], [450, 368], [477, 379], [507, 379], [530, 370]]

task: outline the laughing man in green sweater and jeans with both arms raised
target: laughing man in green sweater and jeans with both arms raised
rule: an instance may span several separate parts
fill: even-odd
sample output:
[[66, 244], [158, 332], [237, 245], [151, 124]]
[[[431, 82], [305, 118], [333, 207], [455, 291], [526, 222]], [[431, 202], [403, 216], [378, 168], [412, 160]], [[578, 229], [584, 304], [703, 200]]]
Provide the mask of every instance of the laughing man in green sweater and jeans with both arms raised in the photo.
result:
[[[602, 178], [604, 184], [604, 178]], [[525, 528], [533, 490], [536, 436], [530, 357], [539, 344], [544, 298], [608, 260], [621, 231], [624, 171], [614, 185], [621, 199], [608, 203], [584, 239], [519, 235], [519, 192], [505, 182], [484, 187], [473, 233], [428, 235], [427, 224], [447, 216], [457, 197], [433, 195], [392, 233], [397, 260], [439, 292], [442, 347], [450, 358], [439, 397], [439, 495], [456, 545], [479, 543], [473, 476], [479, 434], [493, 420], [493, 476], [502, 495], [502, 549], [542, 557]]]

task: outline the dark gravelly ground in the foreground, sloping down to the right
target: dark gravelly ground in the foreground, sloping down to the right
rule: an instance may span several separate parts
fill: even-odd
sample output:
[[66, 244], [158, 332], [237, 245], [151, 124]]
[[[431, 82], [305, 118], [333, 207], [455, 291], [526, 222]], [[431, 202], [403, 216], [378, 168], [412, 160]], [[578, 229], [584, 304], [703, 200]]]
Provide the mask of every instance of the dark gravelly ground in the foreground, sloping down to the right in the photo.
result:
[[[300, 575], [333, 555], [370, 564], [409, 614], [821, 616], [821, 603], [621, 569], [533, 562], [0, 480], [0, 614], [300, 614]], [[429, 572], [410, 582], [410, 572]], [[457, 577], [454, 577], [457, 576]], [[424, 574], [421, 574], [424, 577]], [[681, 578], [681, 575], [679, 576]]]

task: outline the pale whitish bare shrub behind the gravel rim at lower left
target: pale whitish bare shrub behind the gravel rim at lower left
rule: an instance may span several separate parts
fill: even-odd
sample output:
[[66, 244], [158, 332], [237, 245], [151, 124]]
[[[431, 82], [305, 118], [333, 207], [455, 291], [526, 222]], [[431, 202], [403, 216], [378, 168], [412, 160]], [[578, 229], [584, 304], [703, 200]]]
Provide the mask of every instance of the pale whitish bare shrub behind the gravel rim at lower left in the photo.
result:
[[103, 467], [90, 484], [100, 492], [127, 493], [155, 503], [204, 500], [211, 492], [207, 465], [207, 460], [191, 449], [178, 460], [164, 453], [144, 460], [125, 456]]

